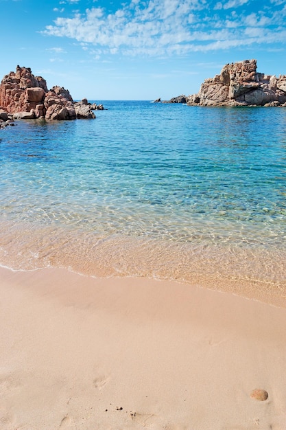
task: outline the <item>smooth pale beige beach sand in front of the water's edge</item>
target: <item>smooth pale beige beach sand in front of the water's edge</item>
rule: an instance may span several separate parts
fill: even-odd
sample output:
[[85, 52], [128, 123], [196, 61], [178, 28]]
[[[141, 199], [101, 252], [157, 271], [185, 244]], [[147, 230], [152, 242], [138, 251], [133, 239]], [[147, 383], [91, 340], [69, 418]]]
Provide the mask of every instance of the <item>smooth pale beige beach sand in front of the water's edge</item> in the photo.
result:
[[64, 269], [0, 288], [1, 429], [286, 428], [285, 308]]

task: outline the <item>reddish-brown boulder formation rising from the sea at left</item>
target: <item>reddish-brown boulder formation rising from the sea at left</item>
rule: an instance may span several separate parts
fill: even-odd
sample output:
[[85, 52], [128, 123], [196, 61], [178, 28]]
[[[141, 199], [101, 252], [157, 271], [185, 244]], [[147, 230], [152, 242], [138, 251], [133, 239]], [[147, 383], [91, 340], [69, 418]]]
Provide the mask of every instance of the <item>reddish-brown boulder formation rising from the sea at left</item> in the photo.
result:
[[69, 91], [63, 87], [48, 90], [45, 79], [34, 76], [29, 67], [17, 66], [16, 72], [11, 71], [4, 76], [0, 84], [0, 112], [9, 115], [9, 119], [95, 118], [92, 107], [87, 102], [84, 109], [79, 109]]

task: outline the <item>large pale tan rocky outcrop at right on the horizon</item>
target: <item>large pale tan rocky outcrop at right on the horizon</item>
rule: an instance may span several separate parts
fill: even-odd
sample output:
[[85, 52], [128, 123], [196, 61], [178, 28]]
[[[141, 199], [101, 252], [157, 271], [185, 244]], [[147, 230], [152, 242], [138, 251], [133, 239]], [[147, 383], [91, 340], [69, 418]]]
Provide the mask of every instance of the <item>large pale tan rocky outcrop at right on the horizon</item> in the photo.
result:
[[286, 106], [286, 75], [257, 73], [257, 60], [227, 64], [219, 75], [204, 81], [192, 106]]

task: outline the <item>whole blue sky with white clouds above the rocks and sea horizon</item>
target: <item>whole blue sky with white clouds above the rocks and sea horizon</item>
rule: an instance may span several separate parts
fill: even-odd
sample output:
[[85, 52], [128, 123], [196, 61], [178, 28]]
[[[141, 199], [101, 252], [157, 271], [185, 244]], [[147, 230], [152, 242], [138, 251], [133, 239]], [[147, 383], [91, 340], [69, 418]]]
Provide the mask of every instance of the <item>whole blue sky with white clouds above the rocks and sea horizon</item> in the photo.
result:
[[0, 14], [0, 79], [31, 67], [74, 100], [169, 100], [250, 58], [286, 74], [286, 0], [0, 0]]

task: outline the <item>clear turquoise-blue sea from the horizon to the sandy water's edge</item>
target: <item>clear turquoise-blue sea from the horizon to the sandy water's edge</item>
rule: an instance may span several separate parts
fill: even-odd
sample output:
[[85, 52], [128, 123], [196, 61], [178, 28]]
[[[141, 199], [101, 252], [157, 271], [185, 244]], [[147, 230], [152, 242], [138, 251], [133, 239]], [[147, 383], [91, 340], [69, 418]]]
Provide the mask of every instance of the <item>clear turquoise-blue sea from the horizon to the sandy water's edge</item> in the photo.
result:
[[95, 102], [0, 131], [0, 264], [284, 297], [286, 109]]

